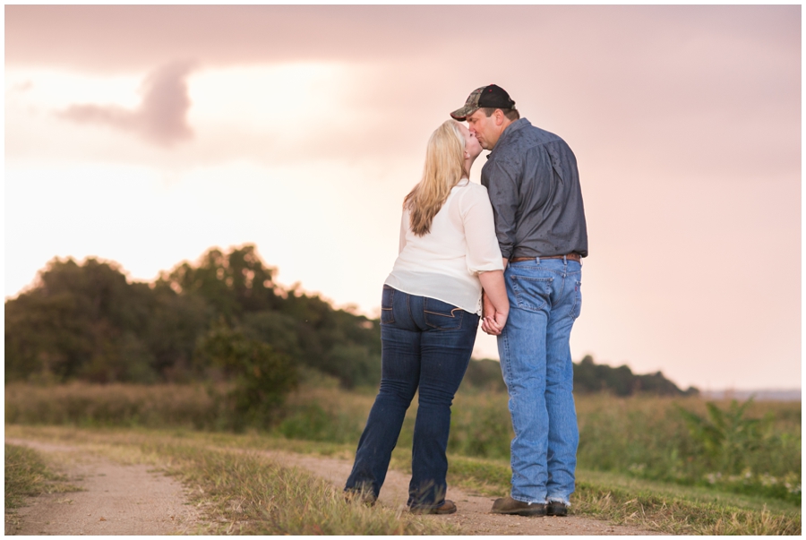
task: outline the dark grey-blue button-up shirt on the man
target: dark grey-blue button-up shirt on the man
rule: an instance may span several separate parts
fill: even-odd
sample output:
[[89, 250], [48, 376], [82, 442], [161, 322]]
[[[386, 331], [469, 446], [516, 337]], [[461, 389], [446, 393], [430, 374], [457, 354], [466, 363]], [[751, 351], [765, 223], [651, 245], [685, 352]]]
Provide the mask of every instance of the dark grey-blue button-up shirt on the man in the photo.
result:
[[587, 257], [577, 159], [560, 137], [516, 120], [487, 156], [481, 182], [493, 203], [503, 258]]

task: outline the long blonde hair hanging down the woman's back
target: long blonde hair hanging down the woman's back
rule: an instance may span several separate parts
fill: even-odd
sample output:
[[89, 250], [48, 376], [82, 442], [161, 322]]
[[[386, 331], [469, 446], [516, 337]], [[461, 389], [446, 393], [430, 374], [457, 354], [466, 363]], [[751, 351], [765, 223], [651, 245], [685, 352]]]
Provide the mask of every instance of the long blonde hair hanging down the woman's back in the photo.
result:
[[436, 128], [425, 148], [423, 179], [403, 199], [403, 207], [411, 216], [411, 230], [425, 236], [433, 217], [448, 199], [454, 185], [467, 176], [465, 170], [465, 137], [459, 122], [447, 120]]

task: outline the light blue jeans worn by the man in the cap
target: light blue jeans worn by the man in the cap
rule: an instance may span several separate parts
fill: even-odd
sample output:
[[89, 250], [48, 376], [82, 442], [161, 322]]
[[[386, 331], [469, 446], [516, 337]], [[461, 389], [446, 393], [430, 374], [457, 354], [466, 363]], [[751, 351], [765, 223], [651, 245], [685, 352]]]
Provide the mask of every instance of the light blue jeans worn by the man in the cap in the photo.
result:
[[582, 266], [565, 259], [510, 263], [504, 272], [510, 316], [498, 337], [515, 438], [517, 501], [569, 502], [579, 428], [572, 394], [570, 331], [582, 307]]

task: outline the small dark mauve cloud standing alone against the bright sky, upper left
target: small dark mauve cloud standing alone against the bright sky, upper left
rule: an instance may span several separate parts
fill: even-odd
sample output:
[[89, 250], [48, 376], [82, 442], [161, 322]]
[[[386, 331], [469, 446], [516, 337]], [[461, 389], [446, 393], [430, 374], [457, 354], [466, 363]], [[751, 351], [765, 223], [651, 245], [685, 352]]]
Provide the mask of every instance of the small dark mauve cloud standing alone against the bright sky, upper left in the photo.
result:
[[193, 62], [167, 64], [143, 81], [140, 107], [130, 110], [115, 105], [72, 105], [57, 113], [79, 124], [106, 124], [116, 129], [140, 134], [147, 141], [169, 147], [193, 137], [187, 123], [191, 107], [185, 78]]

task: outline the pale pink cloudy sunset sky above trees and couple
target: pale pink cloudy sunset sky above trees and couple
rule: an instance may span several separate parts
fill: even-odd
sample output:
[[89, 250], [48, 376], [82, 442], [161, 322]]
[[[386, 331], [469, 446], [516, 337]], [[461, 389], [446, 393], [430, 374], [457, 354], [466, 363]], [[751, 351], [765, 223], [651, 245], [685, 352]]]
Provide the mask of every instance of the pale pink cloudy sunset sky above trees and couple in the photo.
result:
[[280, 284], [378, 316], [425, 142], [495, 83], [577, 156], [573, 359], [800, 388], [801, 21], [799, 4], [6, 5], [5, 297], [54, 257], [150, 281], [249, 243]]

